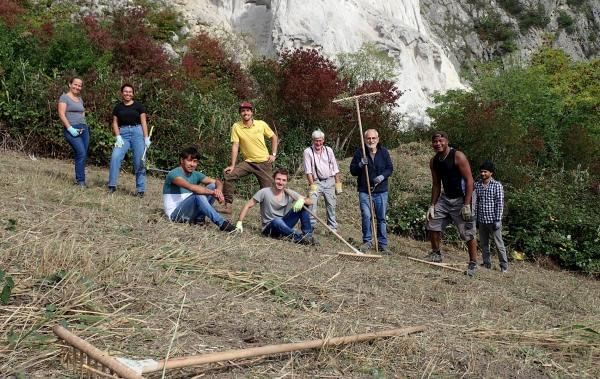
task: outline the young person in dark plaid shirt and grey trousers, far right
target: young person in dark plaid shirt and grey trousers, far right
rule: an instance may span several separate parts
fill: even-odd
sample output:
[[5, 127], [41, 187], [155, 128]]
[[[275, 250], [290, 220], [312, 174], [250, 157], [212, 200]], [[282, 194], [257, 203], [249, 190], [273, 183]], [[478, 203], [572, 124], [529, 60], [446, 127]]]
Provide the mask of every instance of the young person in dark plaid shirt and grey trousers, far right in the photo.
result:
[[494, 164], [485, 161], [479, 167], [481, 180], [475, 182], [477, 195], [477, 225], [479, 228], [479, 241], [483, 251], [483, 265], [492, 268], [490, 256], [490, 237], [494, 239], [498, 249], [498, 260], [502, 273], [508, 272], [506, 249], [502, 240], [502, 209], [504, 207], [504, 189], [500, 182], [494, 180], [492, 175], [496, 171]]

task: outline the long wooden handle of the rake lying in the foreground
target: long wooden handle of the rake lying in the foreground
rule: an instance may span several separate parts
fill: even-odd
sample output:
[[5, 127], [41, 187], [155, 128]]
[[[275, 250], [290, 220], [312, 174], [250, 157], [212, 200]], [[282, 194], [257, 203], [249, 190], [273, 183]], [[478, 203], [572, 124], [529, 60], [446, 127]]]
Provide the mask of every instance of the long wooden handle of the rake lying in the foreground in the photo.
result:
[[260, 357], [264, 355], [280, 354], [296, 350], [321, 349], [329, 346], [346, 345], [356, 342], [371, 341], [374, 339], [396, 336], [407, 336], [409, 334], [422, 332], [426, 329], [424, 325], [382, 330], [375, 333], [354, 334], [351, 336], [325, 338], [319, 340], [311, 340], [297, 343], [285, 343], [280, 345], [268, 345], [261, 347], [252, 347], [240, 350], [228, 350], [218, 353], [209, 353], [202, 355], [194, 355], [189, 357], [173, 358], [168, 362], [159, 361], [156, 367], [144, 369], [143, 373], [160, 371], [163, 367], [167, 369], [190, 367], [203, 365], [207, 363], [215, 363], [229, 361], [232, 359]]

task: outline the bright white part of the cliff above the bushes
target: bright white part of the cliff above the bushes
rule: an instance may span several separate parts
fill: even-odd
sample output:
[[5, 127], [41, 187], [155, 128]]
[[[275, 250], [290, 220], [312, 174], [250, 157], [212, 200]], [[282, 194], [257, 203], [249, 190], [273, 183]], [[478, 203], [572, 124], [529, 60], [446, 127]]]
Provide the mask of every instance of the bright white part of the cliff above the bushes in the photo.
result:
[[424, 110], [435, 91], [462, 87], [417, 0], [181, 0], [179, 5], [192, 24], [232, 30], [262, 55], [314, 47], [335, 59], [374, 43], [396, 59], [396, 83], [405, 91], [399, 111], [415, 123], [427, 123]]

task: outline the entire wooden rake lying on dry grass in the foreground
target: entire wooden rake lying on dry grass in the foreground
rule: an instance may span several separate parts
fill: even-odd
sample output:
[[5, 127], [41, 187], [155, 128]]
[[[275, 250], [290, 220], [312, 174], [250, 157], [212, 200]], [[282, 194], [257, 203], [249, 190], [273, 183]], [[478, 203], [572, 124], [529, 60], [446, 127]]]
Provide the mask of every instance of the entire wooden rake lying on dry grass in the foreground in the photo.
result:
[[169, 360], [155, 361], [145, 359], [141, 361], [115, 358], [108, 353], [94, 347], [89, 342], [71, 333], [66, 328], [56, 325], [52, 330], [60, 340], [65, 343], [64, 362], [80, 377], [87, 378], [123, 378], [143, 379], [143, 374], [198, 366], [208, 363], [224, 362], [234, 359], [262, 357], [273, 354], [281, 354], [290, 351], [322, 349], [331, 346], [341, 346], [357, 342], [372, 341], [386, 337], [407, 336], [419, 333], [426, 329], [424, 325], [406, 327], [400, 329], [388, 329], [374, 333], [353, 334], [344, 337], [325, 338], [297, 343], [285, 343], [280, 345], [267, 345], [248, 349], [228, 350], [203, 355], [179, 357]]

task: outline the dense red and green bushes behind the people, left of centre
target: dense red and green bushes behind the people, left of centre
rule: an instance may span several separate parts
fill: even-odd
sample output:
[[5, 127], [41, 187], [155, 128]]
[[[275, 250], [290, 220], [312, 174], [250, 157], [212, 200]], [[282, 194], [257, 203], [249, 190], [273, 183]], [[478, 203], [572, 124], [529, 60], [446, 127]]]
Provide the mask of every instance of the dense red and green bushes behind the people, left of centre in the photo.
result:
[[[224, 158], [229, 156], [229, 129], [242, 99], [254, 101], [256, 117], [280, 134], [278, 164], [294, 170], [315, 128], [322, 128], [342, 154], [357, 144], [354, 109], [331, 102], [343, 94], [381, 89], [379, 103], [364, 104], [364, 123], [395, 133], [391, 109], [400, 92], [387, 78], [350, 78], [356, 86], [349, 86], [340, 68], [313, 50], [288, 51], [279, 60], [259, 60], [246, 70], [208, 34], [171, 39], [183, 23], [160, 2], [136, 3], [143, 5], [96, 18], [78, 14], [75, 2], [0, 2], [4, 146], [71, 155], [56, 100], [75, 74], [84, 80], [90, 161], [101, 165], [108, 163], [112, 150], [111, 112], [124, 82], [134, 85], [150, 126], [155, 126], [149, 159], [161, 168], [177, 164], [179, 150], [196, 144], [203, 154], [202, 169], [218, 175], [229, 163]], [[165, 54], [162, 43], [167, 39], [179, 40], [176, 49], [185, 51], [181, 59]]]

